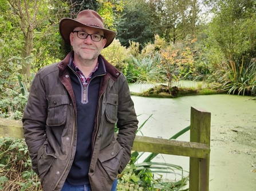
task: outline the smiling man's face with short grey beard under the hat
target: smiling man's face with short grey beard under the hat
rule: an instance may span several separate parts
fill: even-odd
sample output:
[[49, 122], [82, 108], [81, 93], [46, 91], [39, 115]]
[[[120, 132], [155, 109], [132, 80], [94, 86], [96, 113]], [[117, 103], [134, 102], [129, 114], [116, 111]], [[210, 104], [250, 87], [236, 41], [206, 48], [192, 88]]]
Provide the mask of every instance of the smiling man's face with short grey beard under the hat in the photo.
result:
[[[103, 30], [92, 27], [76, 27], [73, 31], [84, 31], [87, 34], [104, 35]], [[104, 38], [101, 38], [99, 42], [94, 42], [90, 35], [88, 35], [86, 39], [81, 39], [78, 38], [77, 32], [71, 32], [69, 38], [73, 46], [75, 58], [82, 61], [96, 60], [107, 42]]]

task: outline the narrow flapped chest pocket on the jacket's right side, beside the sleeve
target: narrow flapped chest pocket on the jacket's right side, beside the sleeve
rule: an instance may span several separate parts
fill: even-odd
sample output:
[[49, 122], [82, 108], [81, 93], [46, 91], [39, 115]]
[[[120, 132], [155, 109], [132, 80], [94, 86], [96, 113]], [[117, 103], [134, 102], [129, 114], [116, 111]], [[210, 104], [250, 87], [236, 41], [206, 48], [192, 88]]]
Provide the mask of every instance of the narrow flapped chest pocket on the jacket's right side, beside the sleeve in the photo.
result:
[[117, 122], [118, 95], [108, 94], [107, 104], [105, 109], [106, 119], [109, 123]]

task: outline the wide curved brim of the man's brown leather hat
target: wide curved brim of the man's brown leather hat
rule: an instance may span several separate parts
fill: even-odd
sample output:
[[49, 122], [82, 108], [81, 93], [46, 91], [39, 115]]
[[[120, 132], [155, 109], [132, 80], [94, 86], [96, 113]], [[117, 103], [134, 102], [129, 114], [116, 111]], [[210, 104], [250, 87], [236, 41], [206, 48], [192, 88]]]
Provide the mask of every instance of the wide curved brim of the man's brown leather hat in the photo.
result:
[[76, 27], [92, 27], [92, 28], [96, 28], [96, 29], [100, 29], [104, 31], [104, 38], [107, 39], [107, 42], [104, 46], [104, 48], [108, 47], [109, 44], [111, 44], [113, 42], [113, 40], [115, 39], [116, 36], [116, 32], [112, 31], [112, 30], [108, 30], [108, 29], [104, 29], [101, 27], [97, 27], [97, 26], [92, 26], [92, 25], [86, 25], [84, 23], [75, 21], [74, 19], [70, 19], [70, 18], [64, 18], [61, 20], [60, 22], [60, 34], [62, 36], [62, 38], [65, 40], [66, 43], [70, 44], [70, 39], [69, 39], [69, 35], [70, 33], [74, 30], [74, 28]]

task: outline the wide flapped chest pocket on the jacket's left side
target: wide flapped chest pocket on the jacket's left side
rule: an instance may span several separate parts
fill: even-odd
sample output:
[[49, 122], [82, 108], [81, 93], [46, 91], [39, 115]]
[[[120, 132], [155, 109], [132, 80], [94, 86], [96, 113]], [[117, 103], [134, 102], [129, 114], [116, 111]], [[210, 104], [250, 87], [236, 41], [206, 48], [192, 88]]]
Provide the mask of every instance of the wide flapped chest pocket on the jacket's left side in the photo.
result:
[[68, 95], [50, 95], [48, 99], [48, 126], [60, 126], [66, 123], [66, 113], [69, 104]]

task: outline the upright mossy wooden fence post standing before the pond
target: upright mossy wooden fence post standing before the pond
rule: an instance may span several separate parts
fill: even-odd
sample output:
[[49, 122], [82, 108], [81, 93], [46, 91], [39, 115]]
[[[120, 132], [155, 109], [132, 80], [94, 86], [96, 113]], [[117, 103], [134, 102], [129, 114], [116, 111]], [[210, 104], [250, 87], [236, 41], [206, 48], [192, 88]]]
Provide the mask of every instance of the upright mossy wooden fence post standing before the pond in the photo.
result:
[[[211, 113], [191, 107], [190, 142], [204, 143], [210, 149]], [[210, 152], [207, 159], [190, 157], [190, 191], [209, 190]]]

